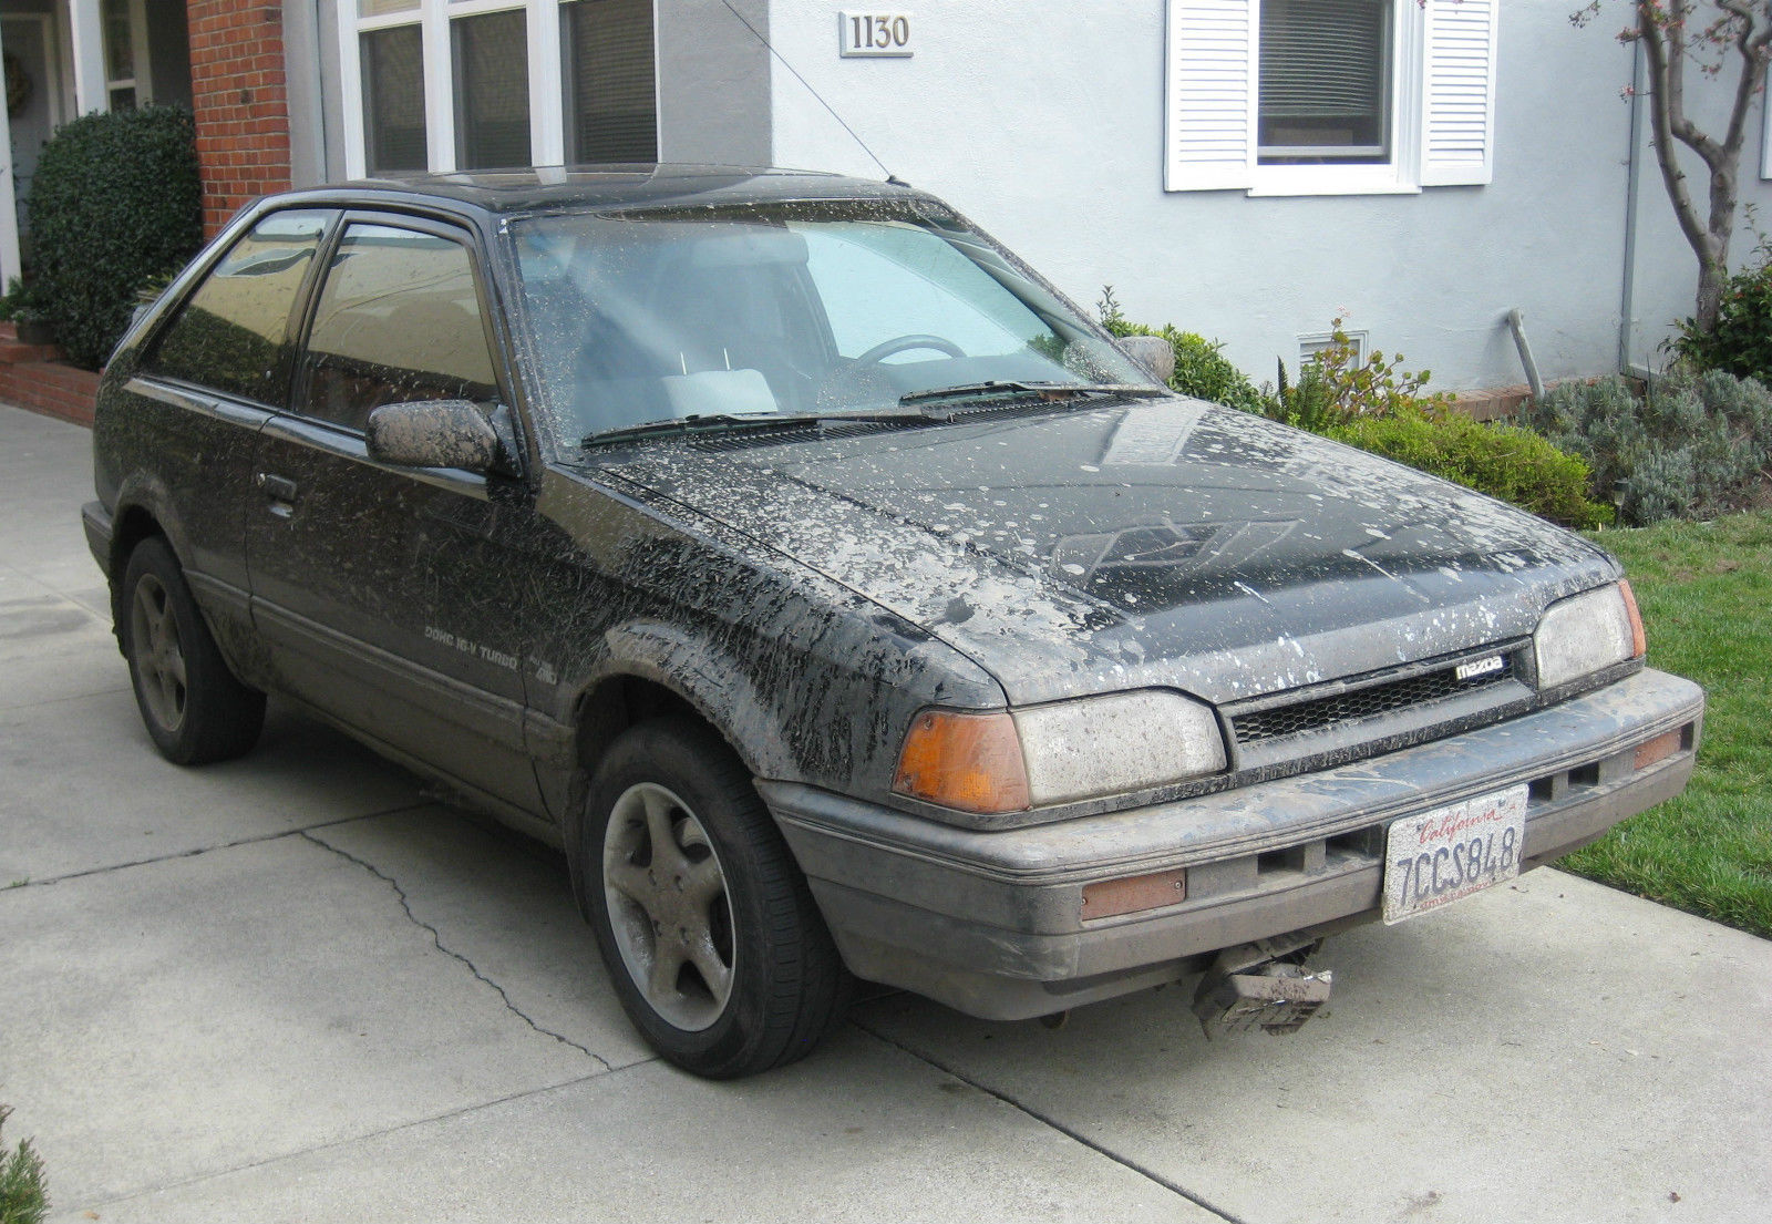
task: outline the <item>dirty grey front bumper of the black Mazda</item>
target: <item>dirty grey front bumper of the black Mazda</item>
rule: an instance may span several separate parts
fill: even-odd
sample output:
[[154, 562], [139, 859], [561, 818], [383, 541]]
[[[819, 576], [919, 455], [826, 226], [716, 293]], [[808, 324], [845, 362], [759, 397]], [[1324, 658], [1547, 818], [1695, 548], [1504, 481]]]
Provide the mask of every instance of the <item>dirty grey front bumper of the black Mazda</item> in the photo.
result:
[[[758, 786], [858, 976], [1015, 1020], [1175, 981], [1221, 948], [1379, 918], [1398, 817], [1527, 783], [1522, 866], [1540, 866], [1680, 794], [1703, 714], [1696, 684], [1639, 671], [1340, 769], [1003, 833]], [[1662, 737], [1667, 755], [1639, 755]], [[1185, 900], [1083, 918], [1084, 886], [1175, 868]]]

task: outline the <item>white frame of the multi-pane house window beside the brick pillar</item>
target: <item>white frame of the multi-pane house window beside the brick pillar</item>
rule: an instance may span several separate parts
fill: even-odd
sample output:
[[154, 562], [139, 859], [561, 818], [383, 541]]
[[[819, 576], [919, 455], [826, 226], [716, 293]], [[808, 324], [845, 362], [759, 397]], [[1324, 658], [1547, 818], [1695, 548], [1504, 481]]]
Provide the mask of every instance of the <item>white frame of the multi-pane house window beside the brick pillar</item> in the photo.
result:
[[[360, 16], [358, 0], [338, 0], [338, 74], [344, 96], [346, 175], [361, 179], [369, 168], [363, 62], [358, 35], [393, 27], [418, 27], [424, 46], [425, 156], [431, 174], [459, 170], [454, 27], [457, 18], [521, 9], [528, 28], [530, 165], [565, 165], [567, 81], [563, 71], [565, 5], [571, 0], [418, 0], [416, 7]], [[652, 113], [661, 115], [659, 0], [652, 0]]]

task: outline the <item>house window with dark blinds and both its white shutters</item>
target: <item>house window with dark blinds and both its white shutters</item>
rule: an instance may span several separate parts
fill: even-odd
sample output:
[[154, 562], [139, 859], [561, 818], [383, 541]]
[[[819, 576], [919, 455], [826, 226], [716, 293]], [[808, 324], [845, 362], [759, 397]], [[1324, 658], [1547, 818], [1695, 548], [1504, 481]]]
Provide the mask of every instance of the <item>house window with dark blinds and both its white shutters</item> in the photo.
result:
[[1170, 0], [1171, 191], [1488, 182], [1499, 0]]

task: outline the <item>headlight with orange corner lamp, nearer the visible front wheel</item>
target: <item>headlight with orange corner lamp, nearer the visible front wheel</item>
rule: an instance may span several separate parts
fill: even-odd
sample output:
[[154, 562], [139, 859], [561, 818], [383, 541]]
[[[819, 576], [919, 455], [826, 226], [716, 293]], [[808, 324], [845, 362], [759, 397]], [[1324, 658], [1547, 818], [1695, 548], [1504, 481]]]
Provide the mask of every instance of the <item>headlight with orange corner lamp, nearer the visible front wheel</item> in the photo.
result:
[[1022, 811], [1224, 769], [1212, 709], [1180, 693], [1116, 693], [1026, 710], [923, 710], [893, 790], [960, 811]]

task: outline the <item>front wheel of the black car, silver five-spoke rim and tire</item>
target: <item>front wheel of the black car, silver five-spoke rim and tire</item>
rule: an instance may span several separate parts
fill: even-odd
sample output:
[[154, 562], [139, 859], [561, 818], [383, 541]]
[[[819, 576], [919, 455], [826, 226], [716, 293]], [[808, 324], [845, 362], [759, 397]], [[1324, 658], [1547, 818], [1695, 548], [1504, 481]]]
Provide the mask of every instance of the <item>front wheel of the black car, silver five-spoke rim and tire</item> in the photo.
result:
[[576, 868], [622, 1008], [668, 1061], [737, 1079], [804, 1057], [849, 978], [732, 749], [689, 719], [624, 732]]

